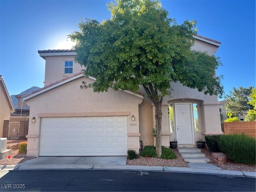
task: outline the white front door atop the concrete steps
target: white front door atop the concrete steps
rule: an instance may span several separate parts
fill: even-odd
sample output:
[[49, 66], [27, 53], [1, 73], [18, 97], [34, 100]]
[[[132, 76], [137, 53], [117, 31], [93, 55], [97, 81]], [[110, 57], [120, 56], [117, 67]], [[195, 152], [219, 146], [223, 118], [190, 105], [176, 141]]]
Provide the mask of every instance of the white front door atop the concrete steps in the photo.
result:
[[178, 144], [193, 144], [190, 103], [175, 104], [176, 135]]

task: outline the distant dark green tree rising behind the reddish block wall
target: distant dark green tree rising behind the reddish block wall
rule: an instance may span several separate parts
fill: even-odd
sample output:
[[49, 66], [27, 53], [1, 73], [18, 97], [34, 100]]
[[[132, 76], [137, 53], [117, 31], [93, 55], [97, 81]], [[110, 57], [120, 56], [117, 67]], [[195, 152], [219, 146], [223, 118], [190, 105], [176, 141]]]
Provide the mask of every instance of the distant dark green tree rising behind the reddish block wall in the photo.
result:
[[227, 101], [226, 110], [232, 112], [235, 116], [241, 112], [252, 110], [254, 106], [250, 104], [250, 94], [252, 94], [253, 88], [233, 88], [234, 92], [230, 91], [230, 94], [225, 96]]

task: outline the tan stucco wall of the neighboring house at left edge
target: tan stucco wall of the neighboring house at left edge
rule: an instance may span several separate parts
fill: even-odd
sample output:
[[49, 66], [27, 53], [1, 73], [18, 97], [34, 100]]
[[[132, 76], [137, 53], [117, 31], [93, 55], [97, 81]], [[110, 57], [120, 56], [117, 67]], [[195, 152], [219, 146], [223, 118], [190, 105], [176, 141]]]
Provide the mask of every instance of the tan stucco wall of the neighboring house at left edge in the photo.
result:
[[10, 120], [10, 104], [4, 91], [0, 88], [0, 138], [3, 136], [4, 120]]

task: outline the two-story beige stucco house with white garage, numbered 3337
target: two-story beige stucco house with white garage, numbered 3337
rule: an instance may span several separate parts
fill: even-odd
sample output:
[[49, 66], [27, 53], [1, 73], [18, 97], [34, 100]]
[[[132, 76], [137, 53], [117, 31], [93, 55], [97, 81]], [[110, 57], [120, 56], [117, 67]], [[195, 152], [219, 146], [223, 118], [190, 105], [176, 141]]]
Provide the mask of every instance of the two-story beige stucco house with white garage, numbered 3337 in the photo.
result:
[[[193, 49], [213, 55], [220, 42], [195, 36]], [[30, 106], [28, 156], [126, 156], [154, 145], [155, 107], [144, 89], [94, 93], [74, 62], [74, 50], [40, 50], [46, 61], [45, 86], [23, 100]], [[162, 145], [196, 146], [204, 135], [222, 134], [218, 96], [171, 82], [162, 102]], [[34, 119], [34, 123], [32, 123]]]

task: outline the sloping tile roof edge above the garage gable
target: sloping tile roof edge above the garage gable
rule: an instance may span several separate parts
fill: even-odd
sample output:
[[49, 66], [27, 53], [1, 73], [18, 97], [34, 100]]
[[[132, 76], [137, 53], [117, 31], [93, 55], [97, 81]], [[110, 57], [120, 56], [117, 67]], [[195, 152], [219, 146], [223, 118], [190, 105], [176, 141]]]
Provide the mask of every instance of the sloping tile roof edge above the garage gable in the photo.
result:
[[[49, 85], [46, 85], [46, 86], [44, 86], [43, 88], [40, 88], [40, 89], [38, 89], [38, 90], [36, 90], [36, 91], [33, 91], [33, 92], [31, 92], [31, 93], [28, 93], [28, 94], [26, 94], [26, 95], [24, 95], [24, 96], [22, 96], [22, 98], [26, 98], [26, 97], [28, 97], [28, 96], [30, 96], [30, 95], [32, 95], [32, 94], [36, 94], [36, 93], [38, 93], [38, 94], [41, 94], [41, 93], [43, 93], [44, 91], [47, 91], [46, 89], [52, 89], [52, 88], [54, 88], [54, 87], [56, 87], [56, 86], [59, 86], [59, 85], [61, 85], [61, 84], [64, 84], [65, 82], [64, 81], [66, 81], [66, 80], [73, 80], [74, 78], [76, 79], [76, 78], [79, 78], [79, 77], [81, 77], [81, 76], [83, 76], [84, 75], [84, 71], [80, 71], [80, 72], [78, 72], [78, 73], [75, 73], [75, 74], [72, 74], [72, 75], [70, 75], [70, 76], [68, 76], [68, 77], [65, 77], [65, 78], [63, 78], [63, 79], [61, 79], [61, 80], [58, 80], [58, 81], [56, 81], [56, 82], [54, 82], [54, 83], [51, 83], [51, 84], [49, 84]], [[91, 79], [93, 79], [93, 80], [95, 80], [94, 78], [92, 78], [92, 77], [89, 77], [89, 78], [91, 78]], [[58, 85], [59, 84], [59, 85]], [[127, 90], [128, 92], [132, 92], [132, 90]], [[39, 93], [40, 92], [40, 93]], [[137, 92], [137, 94], [138, 95], [140, 95], [140, 96], [144, 96], [144, 94], [143, 93], [141, 93], [141, 92]], [[28, 98], [27, 98], [28, 99]], [[26, 99], [26, 100], [27, 100]]]

